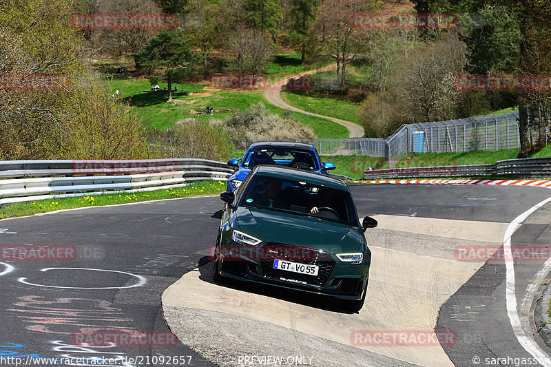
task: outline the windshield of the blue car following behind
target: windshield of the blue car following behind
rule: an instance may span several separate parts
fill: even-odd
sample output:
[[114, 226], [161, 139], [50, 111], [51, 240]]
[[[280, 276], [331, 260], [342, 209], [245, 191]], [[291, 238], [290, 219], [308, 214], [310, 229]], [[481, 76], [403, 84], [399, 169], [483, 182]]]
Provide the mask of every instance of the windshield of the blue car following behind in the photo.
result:
[[253, 168], [257, 165], [281, 165], [299, 169], [318, 169], [312, 151], [281, 147], [251, 149], [247, 153], [247, 156], [245, 156], [242, 166]]

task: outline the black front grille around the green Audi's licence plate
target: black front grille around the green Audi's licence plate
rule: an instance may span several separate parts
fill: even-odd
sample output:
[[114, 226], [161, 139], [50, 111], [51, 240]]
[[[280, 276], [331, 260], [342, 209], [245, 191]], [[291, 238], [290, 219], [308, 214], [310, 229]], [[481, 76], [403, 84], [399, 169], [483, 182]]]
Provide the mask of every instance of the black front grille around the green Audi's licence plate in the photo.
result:
[[[278, 249], [305, 249], [300, 248], [296, 246], [292, 246], [289, 244], [273, 244], [269, 243], [265, 245], [267, 249], [270, 247], [277, 247]], [[309, 284], [311, 286], [323, 286], [327, 280], [329, 280], [329, 277], [331, 276], [331, 273], [333, 272], [333, 268], [335, 268], [335, 260], [333, 260], [333, 257], [326, 253], [325, 251], [320, 250], [314, 250], [314, 249], [306, 249], [309, 255], [306, 258], [300, 258], [300, 257], [289, 257], [286, 255], [281, 256], [275, 256], [275, 258], [279, 258], [281, 260], [288, 260], [292, 262], [298, 262], [300, 264], [308, 264], [308, 265], [318, 265], [320, 268], [318, 269], [318, 275], [306, 275], [306, 274], [300, 274], [300, 273], [293, 273], [291, 271], [284, 271], [280, 269], [273, 269], [273, 259], [270, 260], [264, 260], [261, 261], [260, 264], [262, 266], [262, 274], [264, 277], [273, 279], [273, 280], [281, 280], [280, 278], [284, 278], [288, 280], [290, 284]], [[287, 253], [296, 253], [293, 251], [288, 251]], [[304, 254], [304, 252], [301, 252]], [[294, 281], [294, 282], [293, 282]]]

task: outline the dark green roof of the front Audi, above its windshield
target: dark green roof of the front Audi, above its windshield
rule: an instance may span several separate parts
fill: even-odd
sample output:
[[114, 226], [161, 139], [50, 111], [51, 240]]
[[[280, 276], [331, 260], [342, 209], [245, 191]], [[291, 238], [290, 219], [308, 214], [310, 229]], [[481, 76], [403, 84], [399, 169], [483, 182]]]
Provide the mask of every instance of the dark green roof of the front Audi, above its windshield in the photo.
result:
[[303, 169], [276, 167], [271, 165], [258, 165], [254, 167], [253, 174], [261, 174], [262, 176], [279, 178], [280, 180], [304, 180], [309, 183], [314, 183], [315, 185], [349, 191], [349, 188], [344, 182], [342, 182], [342, 180], [318, 174], [312, 171], [305, 171]]

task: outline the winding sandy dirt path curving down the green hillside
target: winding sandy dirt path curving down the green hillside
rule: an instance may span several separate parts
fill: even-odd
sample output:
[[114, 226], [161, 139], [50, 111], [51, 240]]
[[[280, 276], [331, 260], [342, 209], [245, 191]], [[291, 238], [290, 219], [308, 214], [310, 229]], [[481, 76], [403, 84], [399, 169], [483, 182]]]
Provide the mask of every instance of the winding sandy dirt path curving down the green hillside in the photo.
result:
[[299, 109], [297, 107], [293, 107], [293, 106], [289, 105], [289, 103], [283, 101], [283, 98], [281, 97], [281, 88], [283, 87], [283, 85], [285, 85], [287, 83], [289, 78], [298, 78], [299, 76], [304, 75], [304, 74], [313, 74], [315, 72], [322, 72], [322, 71], [326, 71], [326, 70], [331, 70], [334, 67], [335, 67], [335, 65], [328, 65], [326, 67], [321, 67], [320, 69], [311, 70], [311, 71], [306, 72], [306, 73], [286, 76], [284, 79], [278, 81], [277, 83], [275, 83], [273, 85], [269, 85], [268, 87], [266, 87], [264, 89], [264, 96], [269, 101], [269, 103], [271, 103], [273, 105], [276, 105], [278, 107], [281, 107], [281, 108], [284, 108], [284, 109], [289, 109], [289, 111], [293, 111], [293, 112], [299, 112], [300, 114], [316, 116], [316, 117], [320, 117], [320, 118], [326, 118], [327, 120], [331, 120], [334, 123], [342, 125], [342, 126], [346, 127], [346, 129], [349, 129], [349, 138], [362, 138], [362, 136], [364, 136], [364, 128], [361, 127], [360, 125], [352, 123], [351, 121], [341, 120], [340, 118], [334, 118], [334, 117], [329, 117], [329, 116], [323, 116], [323, 115], [320, 115], [320, 114], [313, 114], [312, 112], [306, 112], [303, 109]]

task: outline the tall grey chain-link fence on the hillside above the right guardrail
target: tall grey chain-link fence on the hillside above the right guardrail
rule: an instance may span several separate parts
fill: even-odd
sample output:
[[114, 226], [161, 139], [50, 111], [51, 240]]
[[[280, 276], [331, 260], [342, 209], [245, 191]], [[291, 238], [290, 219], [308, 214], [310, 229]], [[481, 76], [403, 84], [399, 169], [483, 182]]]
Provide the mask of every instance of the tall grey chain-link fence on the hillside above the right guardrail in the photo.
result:
[[[520, 147], [519, 112], [402, 125], [388, 138], [287, 140], [313, 145], [321, 155], [402, 158], [413, 153], [457, 153]], [[530, 129], [535, 141], [537, 129]], [[259, 140], [232, 139], [245, 150]]]

